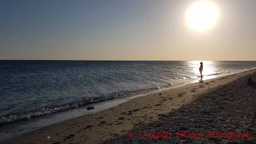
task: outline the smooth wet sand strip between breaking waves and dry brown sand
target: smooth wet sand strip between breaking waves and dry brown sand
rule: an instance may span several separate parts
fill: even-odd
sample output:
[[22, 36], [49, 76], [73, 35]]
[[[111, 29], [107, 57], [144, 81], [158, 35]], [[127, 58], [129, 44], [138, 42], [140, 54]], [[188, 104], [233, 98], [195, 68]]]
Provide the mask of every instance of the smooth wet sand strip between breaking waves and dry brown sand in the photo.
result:
[[[243, 71], [248, 71], [248, 70], [255, 69], [255, 68], [256, 67], [249, 68], [249, 69], [243, 69]], [[235, 74], [235, 73], [239, 73], [239, 72], [243, 72], [243, 71], [227, 73], [225, 75], [220, 75], [219, 77], [231, 75], [231, 74]], [[217, 77], [215, 77], [215, 78], [217, 78]], [[198, 81], [194, 81], [193, 83], [195, 83], [195, 82], [198, 82]], [[183, 85], [173, 86], [173, 87], [169, 87], [169, 88], [177, 88], [180, 86], [183, 86]], [[159, 92], [159, 91], [166, 90], [169, 88], [159, 89], [157, 91], [150, 92], [150, 93]], [[92, 105], [92, 104], [85, 104], [85, 105], [81, 105], [80, 107], [67, 109], [65, 111], [58, 111], [58, 112], [55, 112], [52, 114], [41, 115], [38, 117], [34, 117], [32, 119], [28, 118], [28, 119], [23, 119], [23, 120], [11, 122], [11, 123], [3, 123], [3, 124], [0, 124], [0, 129], [1, 129], [0, 142], [4, 141], [4, 140], [11, 139], [11, 138], [15, 138], [17, 136], [40, 129], [42, 127], [57, 124], [62, 121], [66, 121], [66, 120], [70, 120], [73, 118], [77, 118], [79, 116], [94, 114], [94, 113], [97, 113], [97, 112], [100, 112], [100, 111], [103, 111], [106, 109], [110, 109], [110, 108], [118, 106], [124, 102], [127, 102], [131, 99], [134, 99], [137, 97], [142, 97], [147, 94], [149, 94], [149, 93], [134, 95], [134, 96], [130, 96], [130, 97], [114, 98], [114, 99], [109, 99], [106, 101], [96, 102], [96, 103], [93, 103], [95, 106], [95, 109], [92, 109], [89, 111], [86, 109], [86, 107], [89, 105]]]

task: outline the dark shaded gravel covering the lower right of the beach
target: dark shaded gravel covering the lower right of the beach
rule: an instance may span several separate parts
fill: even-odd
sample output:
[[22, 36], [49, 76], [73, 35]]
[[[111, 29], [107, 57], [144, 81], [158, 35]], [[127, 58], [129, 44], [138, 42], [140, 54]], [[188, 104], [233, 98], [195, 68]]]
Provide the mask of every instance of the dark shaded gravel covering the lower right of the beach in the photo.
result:
[[[249, 75], [243, 76], [231, 83], [218, 86], [205, 93], [187, 105], [181, 106], [168, 114], [159, 113], [159, 119], [149, 124], [139, 123], [127, 133], [114, 139], [104, 141], [105, 144], [123, 143], [170, 143], [170, 144], [255, 144], [256, 143], [256, 87], [246, 84]], [[255, 81], [256, 76], [252, 79]], [[143, 132], [141, 132], [143, 131]], [[178, 131], [202, 133], [202, 138], [178, 138]], [[208, 137], [208, 132], [248, 133], [249, 137], [228, 138]], [[128, 133], [132, 132], [133, 137]], [[172, 132], [171, 138], [141, 138], [147, 133]], [[220, 135], [220, 134], [219, 134]], [[152, 136], [152, 135], [151, 135]], [[224, 136], [224, 135], [223, 135]], [[247, 135], [248, 136], [248, 135]]]

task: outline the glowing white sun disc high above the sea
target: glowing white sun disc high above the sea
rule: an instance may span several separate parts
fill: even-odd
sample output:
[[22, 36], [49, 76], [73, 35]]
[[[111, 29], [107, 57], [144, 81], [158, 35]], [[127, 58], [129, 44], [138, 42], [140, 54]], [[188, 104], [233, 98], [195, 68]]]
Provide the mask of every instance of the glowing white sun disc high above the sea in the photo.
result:
[[208, 30], [219, 17], [218, 7], [212, 1], [195, 2], [187, 11], [186, 20], [190, 28]]

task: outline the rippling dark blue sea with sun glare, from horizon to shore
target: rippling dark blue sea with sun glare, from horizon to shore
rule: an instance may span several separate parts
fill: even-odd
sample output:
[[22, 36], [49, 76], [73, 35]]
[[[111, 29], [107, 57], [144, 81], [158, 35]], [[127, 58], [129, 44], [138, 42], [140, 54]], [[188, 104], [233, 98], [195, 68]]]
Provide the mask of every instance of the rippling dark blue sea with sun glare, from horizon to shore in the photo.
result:
[[[202, 61], [203, 79], [256, 61]], [[0, 60], [0, 124], [197, 82], [200, 61]]]

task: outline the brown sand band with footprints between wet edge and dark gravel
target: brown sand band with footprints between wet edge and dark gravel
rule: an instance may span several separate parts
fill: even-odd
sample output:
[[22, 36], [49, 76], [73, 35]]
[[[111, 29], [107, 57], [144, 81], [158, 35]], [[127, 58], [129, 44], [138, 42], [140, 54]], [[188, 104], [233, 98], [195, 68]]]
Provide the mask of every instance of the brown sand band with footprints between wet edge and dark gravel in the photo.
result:
[[[103, 140], [124, 134], [127, 130], [132, 129], [135, 124], [154, 121], [158, 118], [158, 114], [175, 110], [191, 102], [198, 94], [232, 82], [254, 70], [204, 80], [203, 83], [197, 82], [160, 89], [156, 92], [143, 94], [142, 97], [131, 99], [111, 109], [53, 124], [3, 143], [17, 142], [17, 140], [19, 143], [54, 143], [58, 141], [61, 143], [79, 143], [79, 140], [85, 143], [100, 143]], [[200, 85], [204, 87], [200, 87]], [[160, 93], [161, 95], [159, 95]], [[51, 138], [47, 139], [47, 135]], [[73, 140], [68, 141], [69, 139], [65, 137], [70, 137]]]

